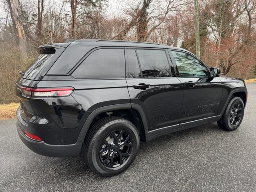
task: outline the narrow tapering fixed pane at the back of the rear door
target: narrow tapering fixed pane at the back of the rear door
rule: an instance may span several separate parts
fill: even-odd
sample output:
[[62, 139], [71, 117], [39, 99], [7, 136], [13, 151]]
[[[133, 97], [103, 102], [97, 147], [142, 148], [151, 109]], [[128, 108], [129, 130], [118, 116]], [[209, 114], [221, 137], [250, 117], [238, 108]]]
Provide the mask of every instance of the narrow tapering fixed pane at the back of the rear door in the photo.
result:
[[140, 66], [134, 49], [127, 49], [126, 78], [140, 78]]

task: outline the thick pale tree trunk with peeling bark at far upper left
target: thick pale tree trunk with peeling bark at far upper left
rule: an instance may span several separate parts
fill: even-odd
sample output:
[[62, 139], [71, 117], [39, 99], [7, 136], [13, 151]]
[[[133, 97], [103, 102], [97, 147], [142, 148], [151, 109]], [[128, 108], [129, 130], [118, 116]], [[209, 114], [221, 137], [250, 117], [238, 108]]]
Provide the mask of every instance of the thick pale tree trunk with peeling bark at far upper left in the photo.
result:
[[7, 0], [7, 2], [10, 9], [12, 22], [15, 24], [14, 25], [14, 27], [16, 27], [15, 30], [18, 32], [21, 59], [24, 61], [27, 56], [27, 44], [26, 44], [26, 36], [25, 36], [23, 24], [20, 19], [21, 10], [18, 5], [18, 0]]

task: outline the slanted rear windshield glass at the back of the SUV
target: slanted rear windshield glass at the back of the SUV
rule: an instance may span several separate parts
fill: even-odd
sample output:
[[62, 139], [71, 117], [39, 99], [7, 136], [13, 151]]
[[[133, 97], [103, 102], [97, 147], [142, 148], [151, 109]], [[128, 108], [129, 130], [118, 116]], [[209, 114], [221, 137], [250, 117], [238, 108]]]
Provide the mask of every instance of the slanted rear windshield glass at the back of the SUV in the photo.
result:
[[63, 52], [62, 47], [41, 47], [38, 48], [39, 56], [27, 68], [22, 78], [30, 80], [40, 80], [45, 72], [47, 72], [52, 64], [58, 59]]

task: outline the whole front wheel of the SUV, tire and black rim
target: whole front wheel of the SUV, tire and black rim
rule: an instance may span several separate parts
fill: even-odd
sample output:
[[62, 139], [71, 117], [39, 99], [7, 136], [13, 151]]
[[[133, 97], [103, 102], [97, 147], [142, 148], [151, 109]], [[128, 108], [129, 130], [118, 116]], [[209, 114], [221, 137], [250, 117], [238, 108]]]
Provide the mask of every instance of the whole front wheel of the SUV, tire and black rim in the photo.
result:
[[244, 102], [240, 97], [232, 97], [226, 110], [222, 114], [222, 117], [217, 121], [217, 123], [220, 128], [233, 131], [240, 126], [243, 117]]

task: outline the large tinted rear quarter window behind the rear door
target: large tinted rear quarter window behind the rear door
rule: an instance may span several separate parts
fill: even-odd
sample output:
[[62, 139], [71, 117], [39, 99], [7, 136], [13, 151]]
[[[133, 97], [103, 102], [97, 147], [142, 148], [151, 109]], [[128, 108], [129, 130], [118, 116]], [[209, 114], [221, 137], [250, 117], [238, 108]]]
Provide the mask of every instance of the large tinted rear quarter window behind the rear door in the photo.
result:
[[72, 73], [74, 78], [124, 78], [124, 49], [98, 49]]

